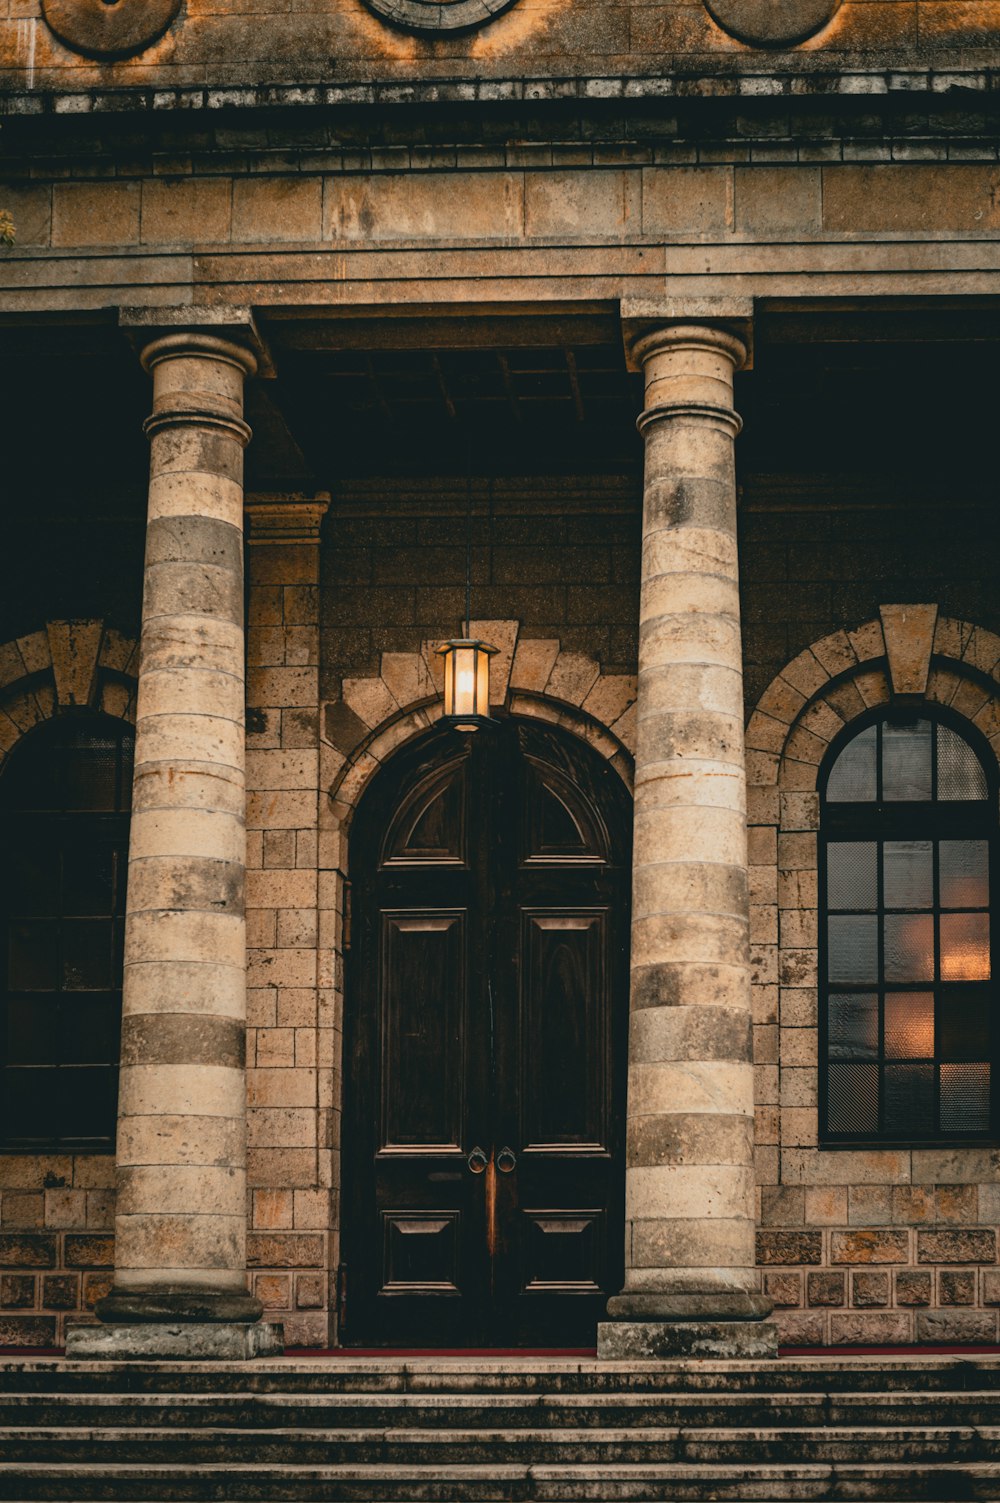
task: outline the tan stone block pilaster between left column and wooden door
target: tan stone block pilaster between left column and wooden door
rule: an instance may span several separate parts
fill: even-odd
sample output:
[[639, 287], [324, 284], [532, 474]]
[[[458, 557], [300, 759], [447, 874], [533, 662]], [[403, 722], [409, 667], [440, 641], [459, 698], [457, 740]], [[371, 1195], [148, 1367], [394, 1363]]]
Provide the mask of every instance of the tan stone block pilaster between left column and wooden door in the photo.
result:
[[247, 508], [247, 1267], [289, 1347], [329, 1344], [337, 1270], [338, 1009], [319, 864], [326, 507], [254, 494]]

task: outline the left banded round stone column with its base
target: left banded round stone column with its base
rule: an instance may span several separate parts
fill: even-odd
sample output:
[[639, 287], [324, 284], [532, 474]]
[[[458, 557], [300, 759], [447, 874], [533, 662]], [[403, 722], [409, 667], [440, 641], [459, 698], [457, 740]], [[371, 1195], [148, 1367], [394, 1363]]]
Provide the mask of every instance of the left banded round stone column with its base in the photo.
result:
[[247, 1293], [244, 379], [159, 332], [125, 932], [114, 1287], [72, 1356], [275, 1350]]

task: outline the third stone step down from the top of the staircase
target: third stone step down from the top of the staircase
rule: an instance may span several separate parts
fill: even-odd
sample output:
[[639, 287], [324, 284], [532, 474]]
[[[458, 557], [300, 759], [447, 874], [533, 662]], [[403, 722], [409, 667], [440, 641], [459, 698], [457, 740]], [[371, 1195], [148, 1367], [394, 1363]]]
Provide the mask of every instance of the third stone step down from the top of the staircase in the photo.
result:
[[774, 1462], [1000, 1461], [1000, 1429], [53, 1429], [33, 1426], [3, 1435], [6, 1461], [104, 1465], [220, 1464], [241, 1461], [295, 1465], [388, 1462], [605, 1464], [605, 1462]]

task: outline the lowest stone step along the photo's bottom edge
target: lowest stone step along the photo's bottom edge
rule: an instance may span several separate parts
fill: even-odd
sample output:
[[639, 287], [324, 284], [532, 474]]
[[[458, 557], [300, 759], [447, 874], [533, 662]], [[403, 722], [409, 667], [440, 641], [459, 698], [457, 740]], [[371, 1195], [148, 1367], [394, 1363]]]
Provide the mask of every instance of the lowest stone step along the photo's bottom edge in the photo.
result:
[[674, 1503], [995, 1500], [1000, 1464], [941, 1465], [320, 1465], [223, 1467], [0, 1462], [0, 1498], [18, 1503]]

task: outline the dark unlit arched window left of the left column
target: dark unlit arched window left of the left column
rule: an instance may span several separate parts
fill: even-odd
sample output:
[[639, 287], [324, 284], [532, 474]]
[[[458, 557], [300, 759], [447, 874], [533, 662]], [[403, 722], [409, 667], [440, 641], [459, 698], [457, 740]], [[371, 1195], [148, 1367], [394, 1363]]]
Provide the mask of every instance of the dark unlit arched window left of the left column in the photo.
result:
[[134, 738], [50, 720], [0, 776], [0, 1142], [114, 1144]]

